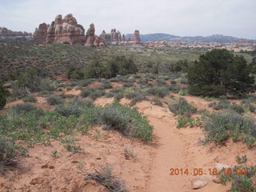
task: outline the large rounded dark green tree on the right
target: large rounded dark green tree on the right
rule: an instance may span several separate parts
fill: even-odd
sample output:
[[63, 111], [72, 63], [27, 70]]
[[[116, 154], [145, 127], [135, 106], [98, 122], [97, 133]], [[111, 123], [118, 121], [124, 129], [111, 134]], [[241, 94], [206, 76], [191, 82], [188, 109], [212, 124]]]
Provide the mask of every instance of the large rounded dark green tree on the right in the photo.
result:
[[211, 50], [188, 68], [189, 92], [194, 95], [220, 96], [252, 90], [254, 78], [242, 56], [228, 50]]

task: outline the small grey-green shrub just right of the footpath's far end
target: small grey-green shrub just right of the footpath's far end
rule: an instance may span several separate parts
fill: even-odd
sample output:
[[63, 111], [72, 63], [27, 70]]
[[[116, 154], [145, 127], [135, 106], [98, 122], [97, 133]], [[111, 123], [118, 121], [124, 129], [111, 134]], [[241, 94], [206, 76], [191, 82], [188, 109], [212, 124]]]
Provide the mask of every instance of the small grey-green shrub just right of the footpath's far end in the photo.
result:
[[168, 106], [171, 112], [178, 115], [194, 114], [197, 111], [197, 108], [188, 103], [185, 98], [179, 98], [178, 101], [170, 102]]

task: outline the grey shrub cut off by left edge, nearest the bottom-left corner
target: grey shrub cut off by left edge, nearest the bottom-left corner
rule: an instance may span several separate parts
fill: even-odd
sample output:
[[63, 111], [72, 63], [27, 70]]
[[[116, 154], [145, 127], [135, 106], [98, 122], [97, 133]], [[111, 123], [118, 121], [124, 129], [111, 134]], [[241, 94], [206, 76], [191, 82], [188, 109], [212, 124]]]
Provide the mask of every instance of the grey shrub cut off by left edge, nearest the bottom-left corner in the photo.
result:
[[8, 166], [17, 166], [17, 150], [14, 143], [0, 135], [0, 173]]

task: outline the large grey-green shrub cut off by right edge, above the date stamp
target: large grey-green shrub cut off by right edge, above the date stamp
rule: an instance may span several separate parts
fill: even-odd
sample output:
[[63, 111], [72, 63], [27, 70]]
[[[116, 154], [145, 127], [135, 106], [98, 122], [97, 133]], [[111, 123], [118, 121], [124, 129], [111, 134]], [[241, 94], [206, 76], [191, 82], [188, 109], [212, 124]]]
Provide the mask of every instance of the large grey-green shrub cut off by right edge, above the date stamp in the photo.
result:
[[228, 138], [234, 142], [242, 140], [248, 146], [256, 142], [256, 125], [253, 119], [247, 118], [232, 110], [212, 113], [205, 119], [206, 142], [225, 144]]

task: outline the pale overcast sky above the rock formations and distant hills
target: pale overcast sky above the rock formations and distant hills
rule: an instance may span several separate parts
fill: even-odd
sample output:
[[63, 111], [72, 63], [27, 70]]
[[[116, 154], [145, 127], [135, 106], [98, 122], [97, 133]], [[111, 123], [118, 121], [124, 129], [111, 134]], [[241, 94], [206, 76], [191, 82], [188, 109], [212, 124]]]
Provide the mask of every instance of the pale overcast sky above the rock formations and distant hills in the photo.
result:
[[73, 14], [86, 30], [94, 23], [96, 34], [115, 28], [256, 39], [256, 0], [0, 0], [0, 13], [0, 26], [27, 32], [57, 14]]

